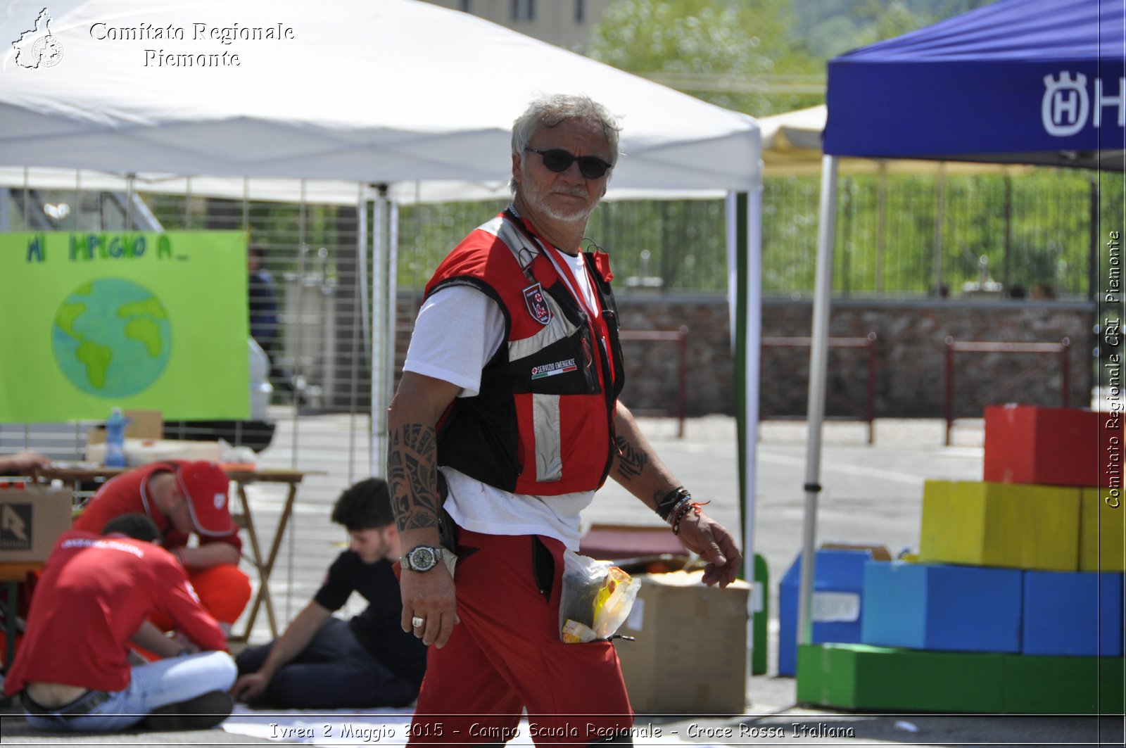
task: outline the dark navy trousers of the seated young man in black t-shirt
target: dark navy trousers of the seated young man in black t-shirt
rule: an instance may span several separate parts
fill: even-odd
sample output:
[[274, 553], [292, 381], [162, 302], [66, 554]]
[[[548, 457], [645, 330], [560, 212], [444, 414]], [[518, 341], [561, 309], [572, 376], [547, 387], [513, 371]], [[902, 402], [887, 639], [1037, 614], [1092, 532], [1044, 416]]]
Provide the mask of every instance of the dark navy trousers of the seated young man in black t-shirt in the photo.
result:
[[[239, 675], [257, 673], [269, 644], [243, 650]], [[374, 709], [405, 706], [418, 687], [392, 673], [364, 649], [347, 622], [330, 617], [313, 640], [270, 680], [266, 705], [274, 709]]]

